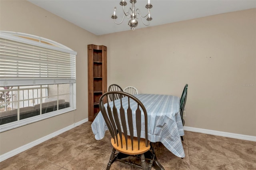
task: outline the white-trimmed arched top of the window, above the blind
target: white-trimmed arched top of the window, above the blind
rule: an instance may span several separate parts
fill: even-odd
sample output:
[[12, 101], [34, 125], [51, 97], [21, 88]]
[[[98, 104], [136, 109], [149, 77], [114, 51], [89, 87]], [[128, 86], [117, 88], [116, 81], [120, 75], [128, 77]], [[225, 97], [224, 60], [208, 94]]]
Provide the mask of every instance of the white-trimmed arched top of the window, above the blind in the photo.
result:
[[20, 33], [20, 32], [11, 32], [11, 31], [0, 31], [0, 38], [28, 43], [31, 45], [36, 45], [40, 47], [46, 47], [50, 49], [55, 49], [58, 51], [68, 52], [72, 55], [76, 55], [76, 51], [71, 48], [62, 45], [61, 43], [54, 42], [47, 38], [42, 38], [39, 36], [34, 36], [32, 34]]

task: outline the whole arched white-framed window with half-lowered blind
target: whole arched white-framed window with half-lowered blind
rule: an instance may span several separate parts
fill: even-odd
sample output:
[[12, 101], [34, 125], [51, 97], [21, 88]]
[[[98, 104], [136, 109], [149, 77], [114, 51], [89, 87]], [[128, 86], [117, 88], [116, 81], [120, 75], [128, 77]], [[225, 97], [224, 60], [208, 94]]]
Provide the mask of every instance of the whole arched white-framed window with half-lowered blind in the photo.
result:
[[0, 32], [0, 132], [76, 109], [76, 52], [38, 36]]

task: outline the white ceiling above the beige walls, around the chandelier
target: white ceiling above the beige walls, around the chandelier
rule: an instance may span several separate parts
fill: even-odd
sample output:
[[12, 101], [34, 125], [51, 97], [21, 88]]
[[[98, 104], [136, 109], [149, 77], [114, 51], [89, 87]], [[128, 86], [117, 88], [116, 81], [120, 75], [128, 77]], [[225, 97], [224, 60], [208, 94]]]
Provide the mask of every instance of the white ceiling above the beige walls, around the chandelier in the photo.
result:
[[[111, 18], [116, 6], [117, 22], [122, 20], [123, 10], [122, 6], [119, 5], [120, 0], [28, 1], [95, 35], [130, 30], [128, 18], [124, 18], [124, 22], [120, 25], [114, 24]], [[125, 9], [128, 11], [131, 4], [129, 0], [126, 2]], [[137, 0], [135, 8], [139, 8], [141, 13], [145, 15], [147, 3], [147, 0]], [[153, 18], [150, 26], [256, 8], [256, 0], [150, 0], [150, 3], [153, 5], [153, 8], [150, 9]], [[138, 22], [136, 29], [146, 27], [140, 19]]]

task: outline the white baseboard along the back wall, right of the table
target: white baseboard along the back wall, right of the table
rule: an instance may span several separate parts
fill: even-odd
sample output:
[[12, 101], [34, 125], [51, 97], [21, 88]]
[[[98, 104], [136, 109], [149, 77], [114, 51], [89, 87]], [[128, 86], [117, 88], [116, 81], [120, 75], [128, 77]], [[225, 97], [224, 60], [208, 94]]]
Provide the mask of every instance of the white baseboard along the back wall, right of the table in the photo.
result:
[[184, 126], [184, 130], [191, 131], [191, 132], [205, 133], [205, 134], [213, 134], [216, 136], [224, 136], [224, 137], [228, 137], [228, 138], [250, 140], [250, 141], [256, 142], [256, 136], [229, 133], [229, 132], [221, 132], [221, 131], [208, 130], [208, 129], [203, 129], [203, 128], [186, 127], [186, 126]]

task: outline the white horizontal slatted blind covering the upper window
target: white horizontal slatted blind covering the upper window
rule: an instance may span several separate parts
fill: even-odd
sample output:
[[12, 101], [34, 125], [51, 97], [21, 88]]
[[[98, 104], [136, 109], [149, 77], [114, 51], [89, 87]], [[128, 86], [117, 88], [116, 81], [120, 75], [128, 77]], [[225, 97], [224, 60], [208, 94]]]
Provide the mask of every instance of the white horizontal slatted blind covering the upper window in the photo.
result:
[[0, 38], [0, 86], [76, 82], [74, 53], [32, 40], [10, 39]]

